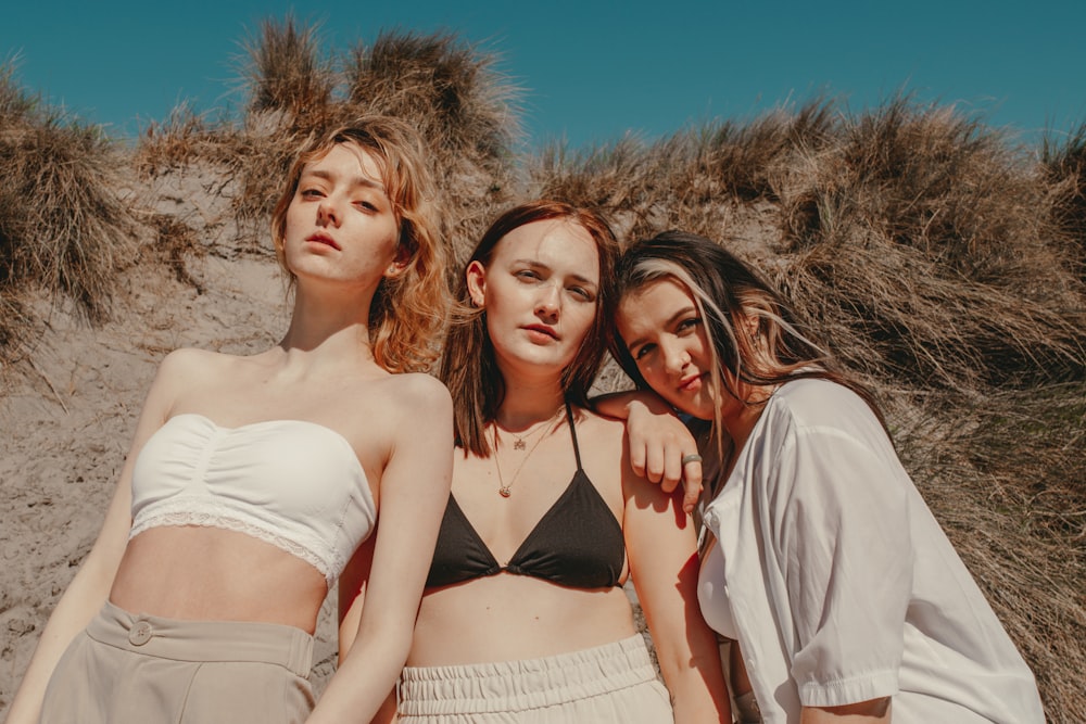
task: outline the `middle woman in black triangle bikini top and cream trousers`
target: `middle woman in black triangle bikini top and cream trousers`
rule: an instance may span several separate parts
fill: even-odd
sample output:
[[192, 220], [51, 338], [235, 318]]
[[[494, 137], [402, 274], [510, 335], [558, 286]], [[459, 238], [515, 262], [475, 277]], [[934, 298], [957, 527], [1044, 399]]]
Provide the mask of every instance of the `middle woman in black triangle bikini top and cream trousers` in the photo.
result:
[[[616, 257], [603, 219], [538, 201], [502, 215], [468, 262], [473, 314], [441, 363], [460, 449], [401, 722], [731, 721], [697, 613], [693, 528], [631, 472], [623, 425], [585, 407]], [[622, 589], [631, 575], [673, 714]]]

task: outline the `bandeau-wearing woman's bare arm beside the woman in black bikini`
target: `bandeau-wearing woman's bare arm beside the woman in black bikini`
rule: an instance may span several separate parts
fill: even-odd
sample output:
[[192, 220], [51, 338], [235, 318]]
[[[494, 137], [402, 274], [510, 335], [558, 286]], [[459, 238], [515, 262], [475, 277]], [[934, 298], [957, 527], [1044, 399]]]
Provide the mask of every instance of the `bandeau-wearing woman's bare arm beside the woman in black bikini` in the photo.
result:
[[[407, 378], [407, 376], [404, 376]], [[379, 522], [358, 625], [310, 722], [370, 721], [407, 660], [453, 468], [452, 401], [413, 374], [381, 475]], [[355, 584], [357, 589], [357, 584]], [[342, 602], [341, 602], [342, 605]]]

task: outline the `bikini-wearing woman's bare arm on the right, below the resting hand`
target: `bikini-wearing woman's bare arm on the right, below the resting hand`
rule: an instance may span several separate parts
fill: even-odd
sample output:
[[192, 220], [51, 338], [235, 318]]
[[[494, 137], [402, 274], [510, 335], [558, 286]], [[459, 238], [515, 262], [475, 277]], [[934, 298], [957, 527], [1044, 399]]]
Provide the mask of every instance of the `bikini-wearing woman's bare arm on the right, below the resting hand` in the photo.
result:
[[694, 526], [680, 525], [669, 497], [630, 471], [623, 531], [631, 575], [671, 691], [677, 724], [731, 722], [717, 637], [697, 604]]

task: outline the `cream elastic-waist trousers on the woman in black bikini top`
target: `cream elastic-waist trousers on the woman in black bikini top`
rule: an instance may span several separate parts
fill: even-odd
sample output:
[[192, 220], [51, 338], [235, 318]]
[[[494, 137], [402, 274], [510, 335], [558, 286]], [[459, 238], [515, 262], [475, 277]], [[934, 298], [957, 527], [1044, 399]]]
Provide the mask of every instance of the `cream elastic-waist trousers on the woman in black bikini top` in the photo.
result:
[[406, 724], [671, 724], [670, 697], [641, 635], [523, 661], [404, 669]]

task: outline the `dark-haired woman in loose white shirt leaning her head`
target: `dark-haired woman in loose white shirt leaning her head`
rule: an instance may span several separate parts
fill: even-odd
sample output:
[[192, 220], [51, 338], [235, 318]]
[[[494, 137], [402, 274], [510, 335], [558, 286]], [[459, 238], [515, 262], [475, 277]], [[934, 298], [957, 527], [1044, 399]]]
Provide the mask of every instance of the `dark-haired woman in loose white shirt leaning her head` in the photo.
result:
[[712, 423], [722, 469], [698, 598], [740, 642], [763, 721], [1043, 722], [871, 396], [783, 297], [674, 231], [634, 244], [618, 277], [623, 369]]

